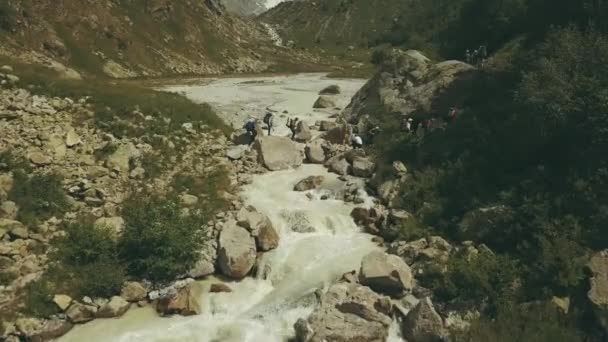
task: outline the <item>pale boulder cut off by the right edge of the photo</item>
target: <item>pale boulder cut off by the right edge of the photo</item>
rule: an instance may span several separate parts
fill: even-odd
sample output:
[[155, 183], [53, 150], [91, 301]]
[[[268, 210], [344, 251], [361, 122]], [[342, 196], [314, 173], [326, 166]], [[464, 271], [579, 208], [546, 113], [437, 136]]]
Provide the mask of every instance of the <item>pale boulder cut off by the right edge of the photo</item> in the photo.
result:
[[598, 321], [608, 333], [608, 250], [594, 254], [587, 266], [591, 271], [587, 298]]

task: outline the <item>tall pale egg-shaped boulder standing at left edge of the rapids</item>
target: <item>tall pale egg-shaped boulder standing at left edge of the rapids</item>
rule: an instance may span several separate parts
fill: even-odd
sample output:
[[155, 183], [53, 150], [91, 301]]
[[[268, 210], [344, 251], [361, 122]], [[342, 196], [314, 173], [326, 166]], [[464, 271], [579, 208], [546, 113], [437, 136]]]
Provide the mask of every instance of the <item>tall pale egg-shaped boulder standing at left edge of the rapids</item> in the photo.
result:
[[251, 271], [255, 259], [256, 244], [251, 234], [236, 222], [227, 222], [219, 238], [218, 264], [222, 273], [242, 279]]

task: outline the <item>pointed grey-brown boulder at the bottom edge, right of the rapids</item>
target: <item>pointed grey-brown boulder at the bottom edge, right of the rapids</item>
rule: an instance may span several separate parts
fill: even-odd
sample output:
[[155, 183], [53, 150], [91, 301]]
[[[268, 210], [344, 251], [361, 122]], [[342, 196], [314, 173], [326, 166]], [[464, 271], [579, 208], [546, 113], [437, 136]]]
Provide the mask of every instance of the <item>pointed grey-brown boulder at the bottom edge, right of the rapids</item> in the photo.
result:
[[428, 297], [420, 300], [407, 314], [402, 331], [408, 341], [416, 342], [441, 342], [446, 336], [443, 320]]

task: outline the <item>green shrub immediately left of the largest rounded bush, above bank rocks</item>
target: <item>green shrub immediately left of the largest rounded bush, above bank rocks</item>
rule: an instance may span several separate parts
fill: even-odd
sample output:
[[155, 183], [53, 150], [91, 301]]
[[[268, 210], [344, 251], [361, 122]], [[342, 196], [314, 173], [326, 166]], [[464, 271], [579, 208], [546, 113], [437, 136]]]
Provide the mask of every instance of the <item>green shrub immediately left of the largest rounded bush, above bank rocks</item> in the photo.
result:
[[120, 292], [125, 280], [118, 259], [114, 232], [84, 219], [68, 224], [65, 236], [54, 241], [55, 262], [50, 279], [56, 287], [75, 297], [110, 297]]

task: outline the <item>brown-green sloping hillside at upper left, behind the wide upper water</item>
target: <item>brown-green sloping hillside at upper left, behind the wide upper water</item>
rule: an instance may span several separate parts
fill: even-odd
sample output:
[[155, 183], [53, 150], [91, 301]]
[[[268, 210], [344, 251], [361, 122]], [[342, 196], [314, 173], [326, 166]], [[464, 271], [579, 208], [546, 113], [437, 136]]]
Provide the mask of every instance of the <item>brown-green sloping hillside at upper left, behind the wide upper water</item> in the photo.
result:
[[116, 78], [280, 69], [303, 61], [267, 30], [207, 1], [0, 2], [0, 54]]

